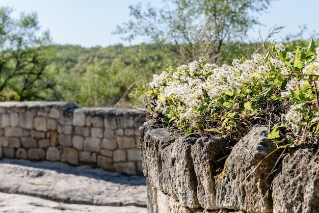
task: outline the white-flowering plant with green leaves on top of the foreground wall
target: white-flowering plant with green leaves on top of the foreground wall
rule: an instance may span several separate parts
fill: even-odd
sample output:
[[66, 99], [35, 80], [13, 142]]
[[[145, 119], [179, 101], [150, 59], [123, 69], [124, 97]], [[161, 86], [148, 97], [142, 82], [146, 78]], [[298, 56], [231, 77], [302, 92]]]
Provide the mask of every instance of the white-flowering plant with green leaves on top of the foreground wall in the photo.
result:
[[319, 49], [285, 50], [235, 59], [232, 65], [192, 62], [155, 74], [137, 91], [153, 119], [185, 134], [244, 135], [254, 124], [269, 126], [281, 146], [316, 143], [319, 134]]

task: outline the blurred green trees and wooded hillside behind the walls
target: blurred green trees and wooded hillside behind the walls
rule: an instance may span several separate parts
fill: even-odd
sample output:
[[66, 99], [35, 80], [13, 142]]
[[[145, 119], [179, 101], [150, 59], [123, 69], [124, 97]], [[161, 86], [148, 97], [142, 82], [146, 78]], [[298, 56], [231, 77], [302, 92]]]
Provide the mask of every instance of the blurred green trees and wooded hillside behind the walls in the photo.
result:
[[[39, 35], [37, 14], [11, 18], [12, 8], [0, 8], [1, 101], [76, 101], [83, 107], [131, 107], [138, 97], [128, 94], [151, 81], [169, 66], [193, 60], [230, 64], [232, 59], [262, 53], [272, 35], [247, 42], [247, 31], [260, 24], [258, 17], [271, 0], [167, 0], [162, 9], [142, 11], [131, 6], [131, 20], [114, 34], [145, 43], [84, 48], [53, 44], [49, 32]], [[173, 10], [170, 8], [174, 8]], [[302, 32], [287, 35], [291, 50], [307, 45]], [[139, 107], [139, 105], [138, 105]], [[142, 107], [142, 106], [141, 106]]]

